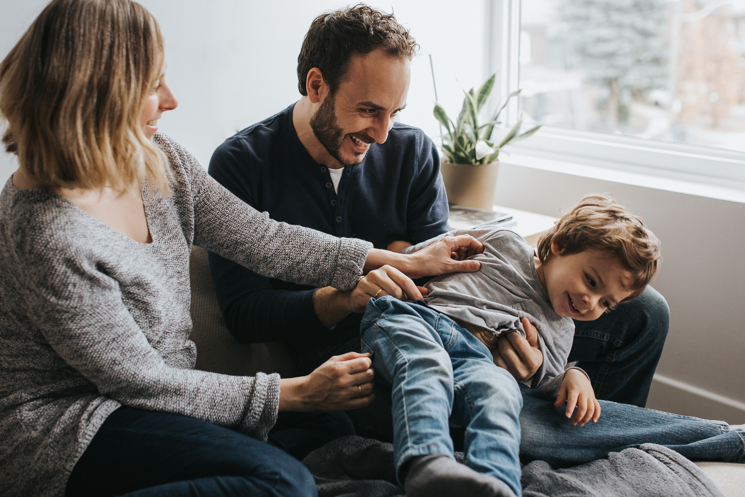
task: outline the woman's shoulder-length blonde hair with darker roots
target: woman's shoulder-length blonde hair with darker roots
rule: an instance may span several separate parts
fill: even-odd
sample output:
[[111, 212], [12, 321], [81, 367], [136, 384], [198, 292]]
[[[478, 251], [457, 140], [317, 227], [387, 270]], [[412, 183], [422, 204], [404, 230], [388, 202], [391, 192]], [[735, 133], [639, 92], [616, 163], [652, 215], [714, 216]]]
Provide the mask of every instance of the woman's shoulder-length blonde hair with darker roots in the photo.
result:
[[159, 77], [158, 23], [130, 0], [53, 0], [0, 63], [5, 150], [48, 189], [168, 192], [142, 107]]

